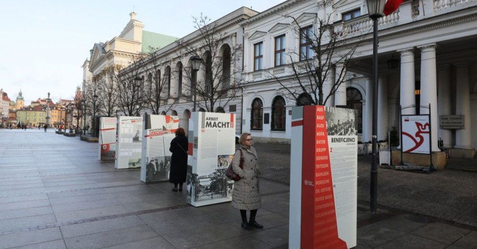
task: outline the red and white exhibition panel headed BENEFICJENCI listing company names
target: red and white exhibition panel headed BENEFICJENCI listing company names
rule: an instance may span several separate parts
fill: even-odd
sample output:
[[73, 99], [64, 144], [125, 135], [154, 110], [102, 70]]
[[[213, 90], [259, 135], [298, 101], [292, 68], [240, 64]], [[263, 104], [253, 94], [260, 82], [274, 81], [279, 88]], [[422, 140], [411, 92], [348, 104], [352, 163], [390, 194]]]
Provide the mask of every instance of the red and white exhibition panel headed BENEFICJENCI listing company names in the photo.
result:
[[355, 122], [352, 109], [293, 107], [289, 248], [356, 246]]

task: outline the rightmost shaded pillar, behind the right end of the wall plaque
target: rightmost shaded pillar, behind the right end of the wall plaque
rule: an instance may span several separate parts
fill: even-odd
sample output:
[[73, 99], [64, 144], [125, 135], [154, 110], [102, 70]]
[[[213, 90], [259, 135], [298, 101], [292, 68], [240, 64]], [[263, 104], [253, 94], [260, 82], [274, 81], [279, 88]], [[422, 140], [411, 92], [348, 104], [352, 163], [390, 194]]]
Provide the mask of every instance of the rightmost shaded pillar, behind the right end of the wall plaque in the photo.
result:
[[455, 148], [472, 149], [470, 129], [469, 62], [454, 63], [456, 74], [455, 114], [464, 116], [464, 129], [455, 130]]

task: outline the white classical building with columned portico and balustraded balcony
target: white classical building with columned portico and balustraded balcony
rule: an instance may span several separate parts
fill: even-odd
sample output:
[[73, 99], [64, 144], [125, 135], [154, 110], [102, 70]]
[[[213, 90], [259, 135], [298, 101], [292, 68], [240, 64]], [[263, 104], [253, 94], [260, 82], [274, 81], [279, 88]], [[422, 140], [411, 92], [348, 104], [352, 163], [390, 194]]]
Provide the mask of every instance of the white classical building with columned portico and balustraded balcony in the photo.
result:
[[[360, 139], [371, 141], [372, 22], [367, 12], [364, 1], [289, 0], [242, 22], [244, 77], [249, 81], [243, 95], [244, 132], [261, 141], [289, 141], [291, 107], [297, 103], [281, 95], [274, 77], [267, 77], [289, 77], [287, 63], [277, 63], [277, 54], [300, 47], [293, 19], [285, 16], [307, 27], [332, 13], [332, 29], [345, 34], [349, 44], [364, 40], [347, 68], [346, 83], [326, 104], [358, 109]], [[405, 1], [379, 20], [379, 40], [378, 140], [387, 140], [392, 127], [399, 130], [400, 105], [430, 104], [432, 150], [439, 150], [441, 138], [445, 147], [459, 149], [462, 156], [474, 153], [477, 114], [471, 110], [477, 108], [477, 2]], [[298, 55], [293, 56], [299, 61]], [[417, 112], [426, 114], [428, 109], [403, 110]], [[445, 114], [464, 115], [464, 129], [439, 129], [439, 115]]]

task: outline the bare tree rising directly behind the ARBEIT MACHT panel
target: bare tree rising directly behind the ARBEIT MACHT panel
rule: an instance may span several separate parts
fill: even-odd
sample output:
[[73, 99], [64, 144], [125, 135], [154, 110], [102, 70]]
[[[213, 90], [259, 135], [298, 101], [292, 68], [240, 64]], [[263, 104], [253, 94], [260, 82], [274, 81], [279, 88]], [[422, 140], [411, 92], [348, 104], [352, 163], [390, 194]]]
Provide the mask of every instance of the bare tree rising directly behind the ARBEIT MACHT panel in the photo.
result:
[[217, 23], [210, 23], [204, 15], [194, 17], [194, 28], [199, 32], [193, 40], [180, 39], [176, 43], [181, 55], [202, 58], [197, 72], [197, 84], [192, 83], [191, 63], [185, 67], [186, 82], [183, 84], [186, 100], [193, 101], [196, 88], [197, 106], [213, 112], [215, 107], [225, 106], [239, 97], [244, 85], [242, 70], [235, 65], [241, 60], [242, 45], [232, 42], [232, 34], [227, 34]]

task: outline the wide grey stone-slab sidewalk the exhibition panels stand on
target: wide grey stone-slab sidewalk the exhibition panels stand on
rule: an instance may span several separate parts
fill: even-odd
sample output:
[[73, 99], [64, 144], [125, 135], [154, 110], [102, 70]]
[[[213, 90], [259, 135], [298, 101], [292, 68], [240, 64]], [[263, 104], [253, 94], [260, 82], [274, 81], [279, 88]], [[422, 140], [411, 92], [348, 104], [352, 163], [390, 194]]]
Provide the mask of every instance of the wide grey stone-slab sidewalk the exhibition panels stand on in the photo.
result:
[[[97, 144], [54, 131], [0, 131], [0, 249], [288, 248], [287, 184], [262, 179], [263, 230], [240, 227], [230, 203], [193, 207], [171, 184], [97, 160]], [[357, 210], [356, 248], [477, 248], [475, 227]]]

